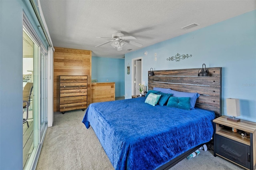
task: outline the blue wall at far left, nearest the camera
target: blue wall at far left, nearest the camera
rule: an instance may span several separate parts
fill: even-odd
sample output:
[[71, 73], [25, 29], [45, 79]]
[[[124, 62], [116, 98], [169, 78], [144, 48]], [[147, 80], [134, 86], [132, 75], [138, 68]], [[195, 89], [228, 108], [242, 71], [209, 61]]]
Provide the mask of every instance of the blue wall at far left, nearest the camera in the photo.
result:
[[[22, 170], [22, 15], [38, 36], [38, 21], [29, 1], [0, 0], [0, 169]], [[42, 38], [44, 42], [45, 38]], [[44, 44], [47, 49], [47, 45]]]

